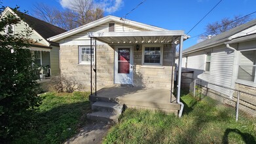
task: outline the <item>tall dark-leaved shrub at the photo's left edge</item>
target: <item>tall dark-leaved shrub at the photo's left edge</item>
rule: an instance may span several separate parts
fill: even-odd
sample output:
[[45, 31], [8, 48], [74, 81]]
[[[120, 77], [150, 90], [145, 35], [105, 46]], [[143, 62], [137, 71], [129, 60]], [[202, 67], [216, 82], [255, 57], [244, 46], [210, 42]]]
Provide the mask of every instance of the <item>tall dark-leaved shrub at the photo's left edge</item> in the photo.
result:
[[[0, 4], [0, 12], [3, 9]], [[31, 43], [31, 30], [26, 27], [23, 33], [5, 33], [5, 27], [20, 22], [10, 14], [0, 21], [0, 143], [18, 136], [29, 125], [28, 112], [41, 103], [35, 81], [37, 67], [32, 65], [30, 50], [24, 49]]]

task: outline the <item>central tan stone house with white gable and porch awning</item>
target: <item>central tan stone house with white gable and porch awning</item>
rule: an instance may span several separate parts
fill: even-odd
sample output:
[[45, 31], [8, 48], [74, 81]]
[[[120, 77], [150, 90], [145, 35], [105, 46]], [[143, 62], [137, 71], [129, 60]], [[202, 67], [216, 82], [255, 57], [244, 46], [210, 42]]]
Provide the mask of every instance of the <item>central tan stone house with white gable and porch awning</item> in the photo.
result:
[[[170, 89], [175, 46], [181, 39], [183, 43], [183, 35], [183, 31], [106, 16], [48, 40], [60, 43], [62, 75], [75, 77], [87, 90], [90, 88], [90, 60], [97, 69], [98, 88], [132, 84]], [[92, 77], [95, 85], [94, 72]]]

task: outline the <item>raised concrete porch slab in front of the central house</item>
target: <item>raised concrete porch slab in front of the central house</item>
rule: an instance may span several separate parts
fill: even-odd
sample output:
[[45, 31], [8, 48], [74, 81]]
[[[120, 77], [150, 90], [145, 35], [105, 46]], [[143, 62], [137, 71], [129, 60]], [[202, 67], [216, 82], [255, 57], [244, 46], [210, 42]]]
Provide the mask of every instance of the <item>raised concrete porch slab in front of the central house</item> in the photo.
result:
[[160, 110], [177, 115], [180, 105], [176, 103], [174, 95], [171, 102], [170, 94], [170, 90], [164, 88], [139, 88], [115, 84], [101, 88], [97, 91], [97, 96], [90, 96], [90, 100], [117, 102], [126, 107]]

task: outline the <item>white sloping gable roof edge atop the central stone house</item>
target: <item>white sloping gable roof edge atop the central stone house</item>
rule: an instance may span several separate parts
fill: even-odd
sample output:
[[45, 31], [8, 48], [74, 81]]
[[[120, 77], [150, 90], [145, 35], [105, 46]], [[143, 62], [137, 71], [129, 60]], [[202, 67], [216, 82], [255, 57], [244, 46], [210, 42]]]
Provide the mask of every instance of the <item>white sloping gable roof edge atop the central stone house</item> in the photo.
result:
[[89, 24], [86, 24], [81, 27], [77, 27], [75, 29], [71, 29], [70, 31], [67, 31], [65, 33], [61, 33], [60, 35], [56, 35], [54, 37], [50, 37], [50, 41], [60, 41], [61, 39], [65, 39], [66, 37], [70, 37], [71, 35], [75, 35], [77, 33], [81, 33], [82, 31], [86, 31], [88, 29], [92, 29], [94, 27], [109, 23], [109, 22], [117, 22], [118, 24], [122, 23], [126, 26], [133, 26], [140, 29], [145, 29], [148, 31], [166, 31], [167, 29], [162, 29], [160, 27], [155, 26], [149, 26], [147, 24], [142, 24], [139, 22], [135, 22], [132, 20], [120, 20], [120, 18], [116, 16], [105, 16], [104, 18], [101, 18], [99, 20], [95, 20], [94, 22], [90, 22]]

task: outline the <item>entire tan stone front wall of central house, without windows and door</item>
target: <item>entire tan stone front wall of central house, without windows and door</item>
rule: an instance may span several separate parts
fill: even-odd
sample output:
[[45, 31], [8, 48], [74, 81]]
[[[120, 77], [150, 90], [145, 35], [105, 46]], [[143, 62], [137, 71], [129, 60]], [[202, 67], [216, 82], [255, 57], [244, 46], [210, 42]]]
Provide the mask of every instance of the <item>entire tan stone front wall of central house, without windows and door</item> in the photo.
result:
[[[171, 45], [163, 46], [162, 66], [142, 65], [142, 45], [134, 45], [133, 85], [147, 88], [168, 88], [174, 75], [175, 54]], [[97, 90], [114, 83], [115, 46], [97, 45]], [[90, 89], [90, 65], [79, 64], [79, 46], [60, 46], [60, 68], [62, 75], [81, 82], [84, 90]], [[94, 85], [94, 72], [92, 81]]]

